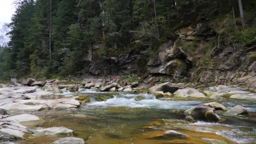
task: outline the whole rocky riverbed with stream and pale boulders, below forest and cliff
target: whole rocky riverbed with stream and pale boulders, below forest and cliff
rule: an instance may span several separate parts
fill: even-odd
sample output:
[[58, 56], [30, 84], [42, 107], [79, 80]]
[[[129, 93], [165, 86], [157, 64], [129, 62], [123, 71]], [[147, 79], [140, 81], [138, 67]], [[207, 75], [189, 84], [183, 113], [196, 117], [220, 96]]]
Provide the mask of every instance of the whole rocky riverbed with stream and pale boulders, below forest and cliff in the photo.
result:
[[256, 142], [256, 94], [236, 85], [29, 83], [0, 86], [1, 143]]

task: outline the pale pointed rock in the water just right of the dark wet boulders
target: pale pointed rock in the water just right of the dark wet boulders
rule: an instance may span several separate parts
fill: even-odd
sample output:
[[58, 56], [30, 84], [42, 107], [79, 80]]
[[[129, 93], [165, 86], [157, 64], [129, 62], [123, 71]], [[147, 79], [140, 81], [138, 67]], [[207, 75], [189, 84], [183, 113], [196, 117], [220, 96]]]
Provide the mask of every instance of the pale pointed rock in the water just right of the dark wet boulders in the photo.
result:
[[235, 107], [229, 109], [227, 112], [224, 112], [224, 116], [234, 117], [237, 115], [248, 115], [247, 109], [240, 105], [236, 105]]

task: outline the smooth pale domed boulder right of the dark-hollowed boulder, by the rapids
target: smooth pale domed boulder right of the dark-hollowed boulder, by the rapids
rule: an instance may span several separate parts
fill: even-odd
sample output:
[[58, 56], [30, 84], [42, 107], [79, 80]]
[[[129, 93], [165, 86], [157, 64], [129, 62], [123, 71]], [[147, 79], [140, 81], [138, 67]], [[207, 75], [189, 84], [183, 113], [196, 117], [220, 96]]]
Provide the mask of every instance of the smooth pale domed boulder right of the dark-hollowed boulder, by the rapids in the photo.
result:
[[205, 98], [205, 95], [197, 91], [195, 88], [179, 89], [173, 94], [174, 96], [184, 97], [184, 98], [186, 97]]

